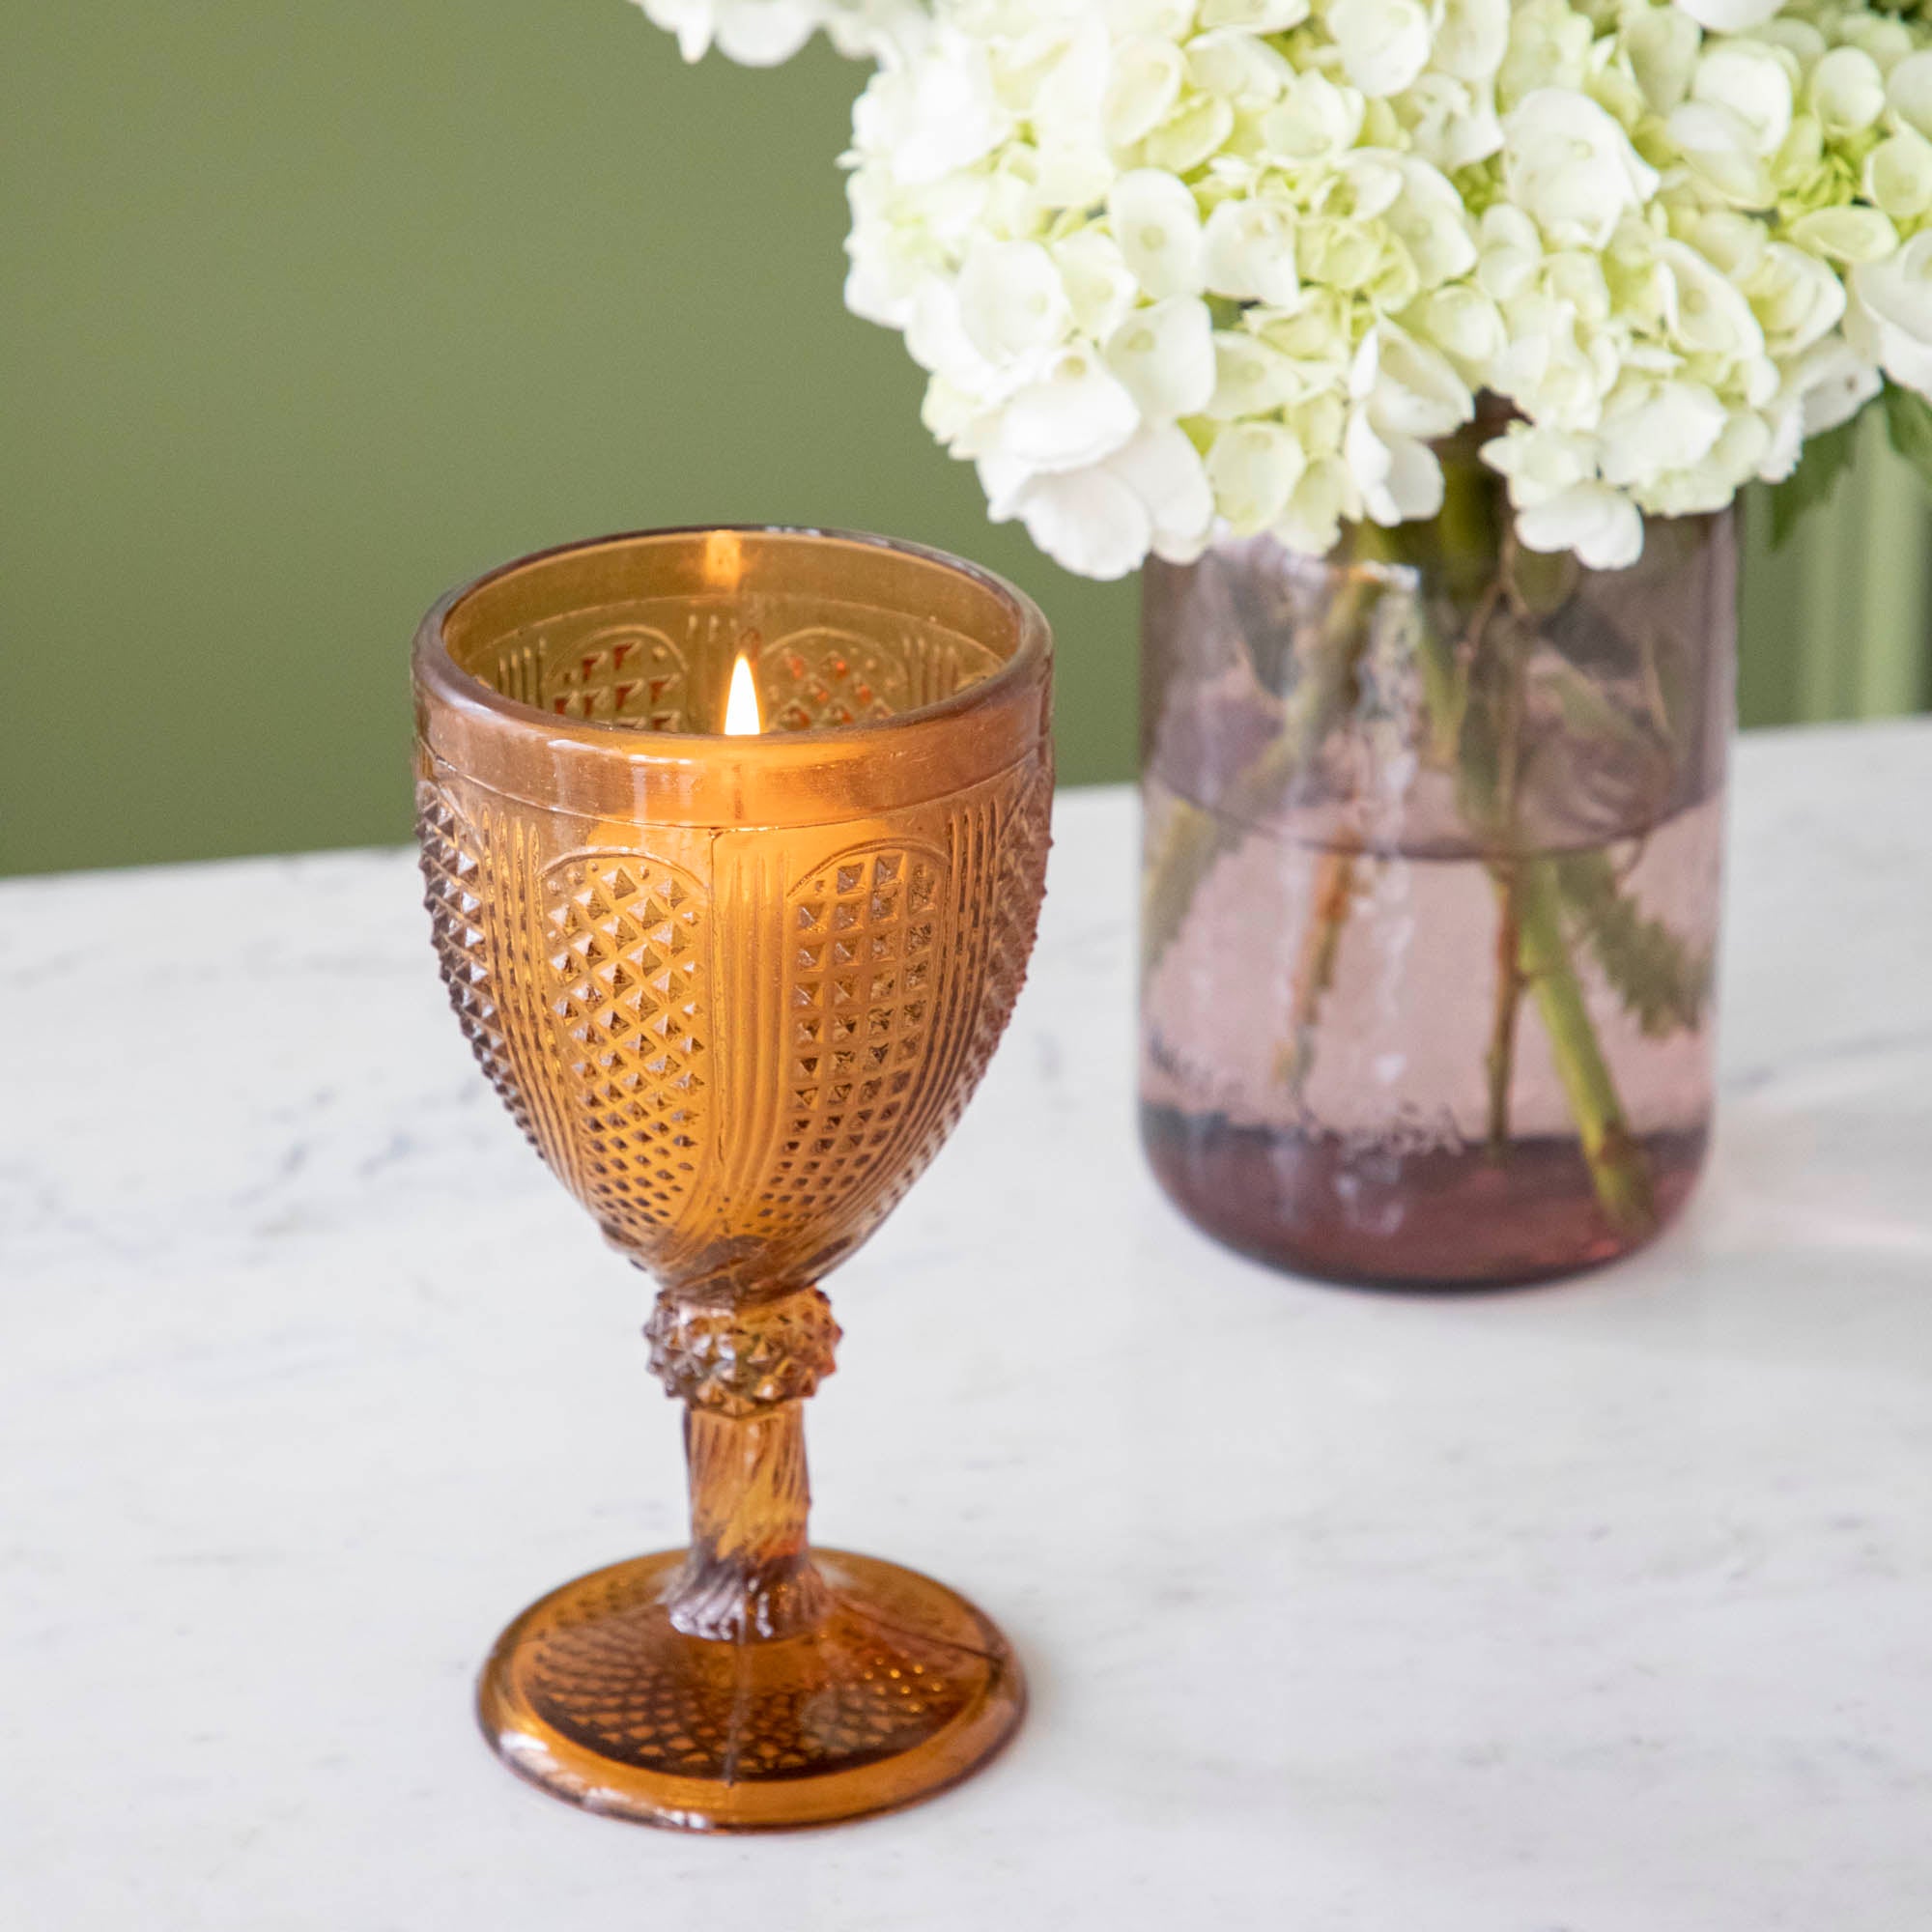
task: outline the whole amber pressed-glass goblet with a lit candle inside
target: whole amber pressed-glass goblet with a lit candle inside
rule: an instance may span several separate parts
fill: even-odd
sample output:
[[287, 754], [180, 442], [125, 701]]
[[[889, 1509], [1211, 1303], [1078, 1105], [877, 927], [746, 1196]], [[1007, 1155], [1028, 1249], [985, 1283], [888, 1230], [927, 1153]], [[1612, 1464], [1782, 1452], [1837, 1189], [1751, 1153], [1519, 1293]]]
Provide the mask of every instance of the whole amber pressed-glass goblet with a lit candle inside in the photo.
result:
[[[970, 564], [794, 529], [551, 551], [417, 634], [450, 1003], [657, 1279], [651, 1368], [686, 1405], [690, 1549], [551, 1592], [479, 1687], [508, 1764], [591, 1810], [829, 1824], [951, 1785], [1018, 1723], [972, 1604], [808, 1549], [800, 1412], [838, 1341], [819, 1279], [939, 1151], [1026, 972], [1049, 649]], [[726, 734], [734, 670], [759, 719]]]

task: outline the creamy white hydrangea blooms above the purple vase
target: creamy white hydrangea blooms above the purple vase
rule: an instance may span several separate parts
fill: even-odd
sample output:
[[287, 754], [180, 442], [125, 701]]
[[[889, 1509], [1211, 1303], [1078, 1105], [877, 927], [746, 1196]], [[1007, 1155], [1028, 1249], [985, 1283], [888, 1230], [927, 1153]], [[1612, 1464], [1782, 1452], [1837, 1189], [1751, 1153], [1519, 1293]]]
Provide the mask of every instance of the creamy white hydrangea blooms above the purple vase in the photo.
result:
[[643, 6], [686, 52], [825, 27], [879, 60], [846, 299], [902, 330], [991, 514], [1084, 576], [1434, 516], [1430, 444], [1484, 392], [1513, 412], [1484, 456], [1520, 541], [1617, 568], [1646, 512], [1785, 477], [1882, 379], [1932, 396], [1917, 14]]

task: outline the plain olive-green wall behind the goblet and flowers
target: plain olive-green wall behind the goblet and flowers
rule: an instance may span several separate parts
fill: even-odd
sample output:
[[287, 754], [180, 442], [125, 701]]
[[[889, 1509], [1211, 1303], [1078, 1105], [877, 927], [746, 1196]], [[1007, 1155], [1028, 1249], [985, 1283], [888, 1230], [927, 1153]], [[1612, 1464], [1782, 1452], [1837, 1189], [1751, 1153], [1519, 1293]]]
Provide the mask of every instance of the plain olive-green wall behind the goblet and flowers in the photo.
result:
[[[0, 871], [402, 838], [423, 607], [659, 522], [985, 560], [1059, 632], [1065, 775], [1130, 773], [1132, 587], [991, 527], [840, 305], [858, 70], [684, 68], [626, 0], [0, 19]], [[1924, 518], [1872, 475], [1752, 572], [1747, 719], [1926, 701]]]

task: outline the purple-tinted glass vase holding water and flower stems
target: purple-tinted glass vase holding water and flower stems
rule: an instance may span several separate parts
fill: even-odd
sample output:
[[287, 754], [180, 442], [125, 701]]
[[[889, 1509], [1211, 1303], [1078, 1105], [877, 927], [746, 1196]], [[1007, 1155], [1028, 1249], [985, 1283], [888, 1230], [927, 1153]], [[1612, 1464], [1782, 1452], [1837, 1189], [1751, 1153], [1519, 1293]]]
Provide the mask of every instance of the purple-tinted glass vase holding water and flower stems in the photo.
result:
[[[1461, 487], [1461, 493], [1459, 493]], [[1729, 516], [1594, 572], [1443, 518], [1150, 564], [1140, 1092], [1208, 1233], [1488, 1287], [1698, 1175], [1735, 661]]]

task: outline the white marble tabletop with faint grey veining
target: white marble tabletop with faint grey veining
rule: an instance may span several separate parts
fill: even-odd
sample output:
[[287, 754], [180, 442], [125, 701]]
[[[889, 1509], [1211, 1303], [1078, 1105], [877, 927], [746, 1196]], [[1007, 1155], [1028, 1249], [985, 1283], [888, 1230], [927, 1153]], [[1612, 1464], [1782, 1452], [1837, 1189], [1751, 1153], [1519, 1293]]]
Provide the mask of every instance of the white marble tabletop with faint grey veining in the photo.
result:
[[410, 858], [0, 889], [0, 1924], [1932, 1924], [1932, 726], [1747, 742], [1714, 1173], [1515, 1296], [1169, 1211], [1130, 825], [1063, 798], [1012, 1036], [813, 1405], [815, 1528], [970, 1590], [1034, 1712], [794, 1839], [576, 1814], [471, 1727], [680, 1466]]

